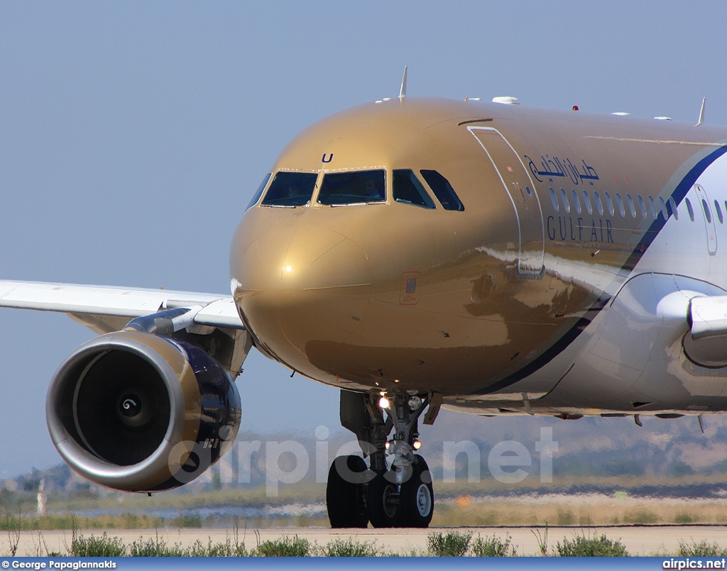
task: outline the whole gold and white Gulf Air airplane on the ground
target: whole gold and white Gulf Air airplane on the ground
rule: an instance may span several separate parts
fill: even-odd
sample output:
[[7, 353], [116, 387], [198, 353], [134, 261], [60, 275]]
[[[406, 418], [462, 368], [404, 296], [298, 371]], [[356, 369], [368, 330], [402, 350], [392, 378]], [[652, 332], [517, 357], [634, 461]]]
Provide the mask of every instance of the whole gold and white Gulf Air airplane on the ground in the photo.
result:
[[[230, 246], [230, 295], [0, 282], [98, 333], [58, 368], [65, 461], [128, 492], [232, 445], [254, 347], [340, 389], [332, 527], [427, 527], [419, 422], [727, 410], [727, 128], [399, 97], [302, 131]], [[721, 248], [719, 244], [722, 244]], [[272, 412], [272, 411], [271, 411]], [[284, 410], [275, 411], [284, 413]]]

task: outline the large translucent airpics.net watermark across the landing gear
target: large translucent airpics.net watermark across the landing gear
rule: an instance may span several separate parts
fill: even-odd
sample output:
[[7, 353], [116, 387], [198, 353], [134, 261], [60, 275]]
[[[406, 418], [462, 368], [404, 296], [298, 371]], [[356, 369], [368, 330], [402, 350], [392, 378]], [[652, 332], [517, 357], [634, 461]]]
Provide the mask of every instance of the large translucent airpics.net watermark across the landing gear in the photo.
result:
[[[236, 440], [212, 469], [202, 467], [209, 465], [209, 461], [205, 462], [211, 453], [209, 448], [198, 443], [180, 442], [176, 450], [172, 450], [169, 467], [177, 474], [177, 479], [187, 482], [212, 482], [213, 471], [220, 485], [245, 485], [252, 483], [253, 479], [260, 481], [262, 478], [266, 495], [277, 497], [281, 484], [296, 484], [309, 477], [315, 477], [318, 483], [325, 483], [334, 458], [361, 455], [361, 446], [370, 446], [356, 440], [332, 445], [330, 431], [326, 426], [318, 426], [315, 436], [315, 442], [308, 441], [307, 447], [298, 440]], [[531, 448], [518, 440], [502, 440], [489, 450], [471, 440], [445, 440], [441, 449], [430, 448], [436, 450], [426, 454], [425, 458], [435, 479], [441, 477], [442, 482], [453, 483], [463, 479], [481, 482], [483, 477], [488, 477], [482, 469], [483, 459], [486, 458], [489, 477], [497, 482], [517, 484], [537, 474], [540, 482], [550, 483], [553, 482], [553, 453], [558, 451], [558, 442], [553, 440], [553, 429], [543, 426], [540, 428], [539, 440], [532, 442]], [[200, 468], [180, 471], [180, 462], [186, 456], [185, 450], [198, 455], [201, 459]], [[533, 453], [537, 455], [535, 460]], [[200, 474], [201, 471], [204, 473]], [[340, 472], [344, 479], [361, 480], [360, 474], [346, 472], [345, 469]]]

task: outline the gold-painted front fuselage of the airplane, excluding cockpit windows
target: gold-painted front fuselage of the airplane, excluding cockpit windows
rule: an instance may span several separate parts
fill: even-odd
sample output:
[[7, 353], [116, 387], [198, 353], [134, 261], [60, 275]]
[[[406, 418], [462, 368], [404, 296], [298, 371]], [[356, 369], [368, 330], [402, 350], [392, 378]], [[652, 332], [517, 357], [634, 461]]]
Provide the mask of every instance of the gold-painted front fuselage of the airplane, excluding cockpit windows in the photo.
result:
[[[654, 232], [647, 219], [595, 206], [555, 211], [549, 188], [658, 200], [704, 142], [725, 137], [666, 123], [411, 98], [320, 121], [271, 172], [318, 173], [320, 187], [327, 172], [385, 169], [387, 201], [322, 206], [314, 193], [307, 206], [249, 208], [230, 252], [241, 317], [262, 352], [342, 388], [447, 397], [523, 378], [587, 323]], [[486, 152], [478, 127], [496, 129], [512, 157]], [[546, 177], [550, 158], [580, 174]], [[393, 169], [435, 169], [465, 210], [393, 201]], [[513, 193], [525, 186], [538, 202], [518, 214]], [[521, 271], [526, 251], [540, 251], [541, 272]]]

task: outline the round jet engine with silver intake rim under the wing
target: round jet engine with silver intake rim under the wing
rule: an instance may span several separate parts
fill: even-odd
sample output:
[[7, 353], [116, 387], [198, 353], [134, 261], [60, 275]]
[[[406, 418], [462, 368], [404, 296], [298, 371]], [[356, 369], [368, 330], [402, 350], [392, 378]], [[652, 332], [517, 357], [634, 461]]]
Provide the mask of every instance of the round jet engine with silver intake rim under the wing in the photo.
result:
[[81, 345], [58, 368], [48, 429], [83, 477], [129, 492], [191, 482], [230, 448], [241, 419], [227, 371], [198, 347], [137, 331]]

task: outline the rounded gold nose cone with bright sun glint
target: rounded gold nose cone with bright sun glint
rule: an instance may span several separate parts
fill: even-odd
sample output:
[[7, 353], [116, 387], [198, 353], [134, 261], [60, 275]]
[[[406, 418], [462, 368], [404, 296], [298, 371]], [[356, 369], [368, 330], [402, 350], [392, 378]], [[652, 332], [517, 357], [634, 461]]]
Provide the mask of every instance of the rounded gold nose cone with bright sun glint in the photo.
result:
[[345, 341], [369, 305], [366, 252], [339, 232], [265, 233], [241, 254], [235, 292], [255, 336], [289, 365], [311, 341]]

